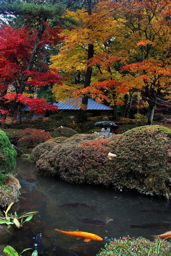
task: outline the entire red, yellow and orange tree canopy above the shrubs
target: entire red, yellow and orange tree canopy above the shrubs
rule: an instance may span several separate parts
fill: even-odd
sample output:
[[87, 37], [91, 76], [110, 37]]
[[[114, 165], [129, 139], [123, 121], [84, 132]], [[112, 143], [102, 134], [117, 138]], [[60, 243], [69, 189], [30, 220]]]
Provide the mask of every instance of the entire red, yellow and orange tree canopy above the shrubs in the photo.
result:
[[[67, 8], [67, 9], [66, 9]], [[1, 114], [88, 97], [148, 115], [170, 107], [169, 1], [1, 1]], [[47, 101], [48, 100], [48, 101]]]

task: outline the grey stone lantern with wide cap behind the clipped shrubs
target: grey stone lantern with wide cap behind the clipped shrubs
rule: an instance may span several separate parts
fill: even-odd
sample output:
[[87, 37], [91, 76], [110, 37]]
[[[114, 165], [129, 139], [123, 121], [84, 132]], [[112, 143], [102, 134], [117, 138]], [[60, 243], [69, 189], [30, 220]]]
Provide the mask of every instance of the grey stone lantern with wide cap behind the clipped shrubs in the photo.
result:
[[109, 121], [109, 118], [105, 117], [102, 119], [103, 121], [95, 123], [95, 126], [101, 127], [101, 131], [98, 132], [98, 136], [112, 136], [114, 135], [113, 132], [111, 132], [112, 128], [116, 128], [116, 124]]

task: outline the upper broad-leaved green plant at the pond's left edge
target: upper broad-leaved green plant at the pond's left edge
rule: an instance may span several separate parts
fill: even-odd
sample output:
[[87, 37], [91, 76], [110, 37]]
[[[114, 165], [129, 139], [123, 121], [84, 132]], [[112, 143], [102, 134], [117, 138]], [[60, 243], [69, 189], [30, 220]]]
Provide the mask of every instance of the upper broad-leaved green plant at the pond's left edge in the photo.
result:
[[[30, 221], [32, 219], [33, 215], [38, 213], [38, 212], [28, 212], [28, 213], [23, 213], [20, 216], [17, 215], [17, 212], [15, 212], [14, 215], [12, 215], [12, 213], [8, 214], [8, 212], [13, 204], [14, 204], [14, 202], [12, 202], [8, 206], [6, 211], [4, 211], [5, 217], [0, 217], [0, 224], [8, 225], [7, 229], [10, 229], [11, 225], [15, 225], [17, 227], [17, 229], [20, 229], [25, 222]], [[21, 219], [21, 222], [19, 222], [19, 219]]]

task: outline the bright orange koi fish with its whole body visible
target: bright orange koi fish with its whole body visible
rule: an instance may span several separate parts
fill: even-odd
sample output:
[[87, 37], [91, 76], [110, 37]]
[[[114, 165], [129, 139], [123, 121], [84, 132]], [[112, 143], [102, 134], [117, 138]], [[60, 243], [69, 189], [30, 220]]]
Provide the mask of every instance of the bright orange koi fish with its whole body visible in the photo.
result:
[[76, 240], [84, 239], [84, 242], [89, 242], [90, 240], [94, 241], [102, 241], [103, 239], [95, 234], [87, 233], [87, 232], [82, 232], [82, 231], [62, 231], [59, 229], [55, 229], [56, 231], [59, 231], [62, 234], [66, 234], [68, 236], [76, 236]]

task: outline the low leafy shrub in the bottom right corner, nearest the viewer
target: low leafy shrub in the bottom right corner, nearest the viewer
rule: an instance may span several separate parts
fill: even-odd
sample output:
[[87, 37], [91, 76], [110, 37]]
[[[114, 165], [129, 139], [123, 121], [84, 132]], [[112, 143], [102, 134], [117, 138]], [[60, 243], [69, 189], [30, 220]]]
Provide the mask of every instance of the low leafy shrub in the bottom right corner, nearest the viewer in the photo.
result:
[[105, 249], [102, 249], [98, 256], [107, 255], [171, 255], [171, 243], [165, 240], [157, 239], [151, 242], [148, 239], [139, 238], [122, 238], [110, 241], [105, 245]]

